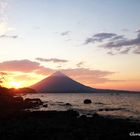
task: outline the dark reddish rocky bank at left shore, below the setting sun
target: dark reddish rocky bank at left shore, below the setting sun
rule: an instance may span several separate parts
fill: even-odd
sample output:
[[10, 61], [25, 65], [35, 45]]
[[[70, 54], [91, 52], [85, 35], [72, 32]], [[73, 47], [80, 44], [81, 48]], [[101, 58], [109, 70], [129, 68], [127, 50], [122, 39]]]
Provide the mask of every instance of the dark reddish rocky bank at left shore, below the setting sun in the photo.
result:
[[2, 91], [0, 92], [0, 112], [8, 112], [10, 110], [18, 111], [43, 105], [43, 102], [39, 98], [23, 99], [21, 96], [17, 96], [5, 88], [0, 91]]

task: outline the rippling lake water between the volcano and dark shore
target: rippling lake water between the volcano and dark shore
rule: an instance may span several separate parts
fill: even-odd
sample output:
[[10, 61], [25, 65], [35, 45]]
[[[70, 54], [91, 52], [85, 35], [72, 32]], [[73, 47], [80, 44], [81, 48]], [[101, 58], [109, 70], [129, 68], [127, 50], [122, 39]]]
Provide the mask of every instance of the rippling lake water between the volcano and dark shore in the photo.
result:
[[[81, 114], [93, 114], [131, 118], [140, 120], [140, 94], [117, 93], [40, 93], [26, 94], [24, 98], [40, 98], [48, 107], [40, 106], [32, 110], [68, 110], [74, 109]], [[84, 104], [84, 99], [92, 100]], [[66, 106], [70, 103], [72, 106]]]

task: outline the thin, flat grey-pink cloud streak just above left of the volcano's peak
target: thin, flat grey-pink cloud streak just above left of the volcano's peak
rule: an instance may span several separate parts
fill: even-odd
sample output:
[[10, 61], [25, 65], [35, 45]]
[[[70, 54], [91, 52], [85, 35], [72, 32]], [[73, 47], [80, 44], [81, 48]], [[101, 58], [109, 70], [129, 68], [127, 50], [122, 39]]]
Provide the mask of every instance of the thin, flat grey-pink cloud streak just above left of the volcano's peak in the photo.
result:
[[58, 58], [49, 58], [49, 59], [46, 59], [46, 58], [36, 58], [36, 60], [38, 61], [41, 61], [41, 62], [53, 62], [53, 63], [66, 63], [68, 62], [68, 60], [65, 60], [65, 59], [58, 59]]

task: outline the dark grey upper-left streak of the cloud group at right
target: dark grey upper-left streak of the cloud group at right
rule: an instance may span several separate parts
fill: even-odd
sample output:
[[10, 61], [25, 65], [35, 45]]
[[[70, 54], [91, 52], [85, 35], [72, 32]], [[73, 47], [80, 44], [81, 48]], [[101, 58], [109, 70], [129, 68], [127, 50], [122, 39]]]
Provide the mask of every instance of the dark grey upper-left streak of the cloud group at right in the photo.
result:
[[94, 42], [102, 42], [105, 39], [110, 39], [112, 37], [116, 37], [117, 34], [114, 33], [98, 33], [93, 35], [90, 38], [87, 38], [84, 44], [94, 43]]

